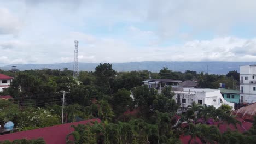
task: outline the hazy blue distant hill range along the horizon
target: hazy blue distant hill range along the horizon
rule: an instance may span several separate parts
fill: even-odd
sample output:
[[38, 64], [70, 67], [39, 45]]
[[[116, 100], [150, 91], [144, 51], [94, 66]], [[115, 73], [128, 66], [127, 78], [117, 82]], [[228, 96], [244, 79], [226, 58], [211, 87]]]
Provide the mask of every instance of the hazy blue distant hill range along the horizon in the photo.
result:
[[[79, 70], [94, 71], [99, 63], [79, 63]], [[194, 70], [197, 72], [205, 71], [210, 74], [226, 74], [228, 71], [239, 71], [240, 65], [256, 64], [256, 62], [128, 62], [128, 63], [112, 63], [113, 69], [117, 71], [132, 70], [150, 70], [158, 72], [163, 67], [167, 67], [173, 71]], [[19, 70], [30, 69], [63, 69], [73, 70], [73, 63], [56, 63], [56, 64], [14, 64]], [[3, 70], [10, 70], [11, 65], [0, 67]]]

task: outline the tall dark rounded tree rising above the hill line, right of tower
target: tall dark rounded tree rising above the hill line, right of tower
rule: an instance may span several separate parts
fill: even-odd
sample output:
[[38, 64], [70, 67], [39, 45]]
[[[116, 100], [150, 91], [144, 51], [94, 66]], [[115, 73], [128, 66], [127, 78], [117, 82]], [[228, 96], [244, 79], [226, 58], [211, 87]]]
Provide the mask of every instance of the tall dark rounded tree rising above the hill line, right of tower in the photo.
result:
[[[114, 69], [112, 69], [112, 64], [104, 63], [98, 65], [95, 68], [95, 75], [97, 77], [97, 85], [103, 87], [102, 91], [106, 91], [106, 85], [108, 85], [108, 93], [112, 94], [112, 86], [111, 81], [114, 79], [115, 73], [117, 73]], [[105, 89], [104, 89], [105, 88]]]

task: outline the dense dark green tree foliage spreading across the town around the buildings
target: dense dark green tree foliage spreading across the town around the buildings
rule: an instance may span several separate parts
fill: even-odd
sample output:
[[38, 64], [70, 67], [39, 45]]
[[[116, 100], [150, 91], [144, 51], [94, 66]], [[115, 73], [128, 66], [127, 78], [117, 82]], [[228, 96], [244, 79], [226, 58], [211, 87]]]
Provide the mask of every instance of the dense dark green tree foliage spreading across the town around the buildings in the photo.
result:
[[[149, 78], [147, 70], [118, 73], [111, 64], [104, 63], [98, 65], [94, 72], [81, 71], [79, 79], [73, 79], [72, 71], [67, 68], [16, 73], [0, 70], [0, 73], [14, 77], [10, 88], [0, 93], [14, 97], [10, 101], [0, 101], [1, 125], [13, 121], [18, 130], [28, 130], [60, 124], [63, 91], [66, 92], [65, 123], [101, 119], [102, 123], [73, 126], [74, 131], [66, 137], [67, 143], [181, 143], [179, 136], [182, 134], [191, 135], [191, 139], [199, 137], [203, 143], [229, 143], [233, 142], [230, 136], [242, 141], [244, 137], [241, 135], [246, 135], [253, 141], [256, 135], [252, 129], [247, 134], [227, 131], [220, 136], [217, 127], [206, 125], [210, 118], [236, 125], [238, 122], [226, 105], [215, 109], [193, 103], [177, 122], [178, 105], [171, 87], [165, 87], [158, 93], [143, 86], [143, 79]], [[237, 83], [232, 73], [226, 76], [197, 74], [190, 70], [181, 73], [168, 68], [151, 73], [151, 77], [195, 80], [198, 87], [203, 88], [217, 88], [219, 83], [233, 88]], [[181, 127], [184, 121], [193, 123], [200, 118], [203, 119], [201, 124], [190, 124], [189, 129]]]

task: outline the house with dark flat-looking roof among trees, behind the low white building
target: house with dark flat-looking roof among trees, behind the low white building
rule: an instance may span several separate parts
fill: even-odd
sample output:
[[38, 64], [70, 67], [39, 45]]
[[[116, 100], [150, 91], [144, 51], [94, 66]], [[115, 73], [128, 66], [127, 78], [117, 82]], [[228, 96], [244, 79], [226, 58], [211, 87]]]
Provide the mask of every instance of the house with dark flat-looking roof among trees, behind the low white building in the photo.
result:
[[172, 79], [145, 79], [144, 85], [148, 85], [149, 88], [155, 88], [161, 93], [162, 88], [166, 86], [175, 86], [177, 87], [180, 80], [172, 80]]

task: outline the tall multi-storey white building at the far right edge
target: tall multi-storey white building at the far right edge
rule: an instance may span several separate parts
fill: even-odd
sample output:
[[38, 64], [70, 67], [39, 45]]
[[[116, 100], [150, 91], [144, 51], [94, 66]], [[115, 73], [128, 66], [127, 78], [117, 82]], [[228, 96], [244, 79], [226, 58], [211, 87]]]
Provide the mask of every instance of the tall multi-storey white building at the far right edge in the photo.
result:
[[256, 65], [240, 66], [240, 103], [256, 102]]

